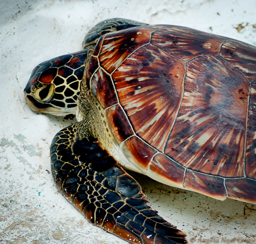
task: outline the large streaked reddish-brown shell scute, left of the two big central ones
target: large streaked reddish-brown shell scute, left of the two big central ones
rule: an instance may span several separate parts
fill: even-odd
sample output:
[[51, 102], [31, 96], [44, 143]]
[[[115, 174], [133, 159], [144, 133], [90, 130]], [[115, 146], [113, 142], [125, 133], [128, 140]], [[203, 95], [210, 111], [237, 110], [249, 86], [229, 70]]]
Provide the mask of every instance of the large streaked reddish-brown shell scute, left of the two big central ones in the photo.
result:
[[147, 45], [113, 73], [120, 104], [135, 132], [163, 151], [183, 96], [185, 65]]

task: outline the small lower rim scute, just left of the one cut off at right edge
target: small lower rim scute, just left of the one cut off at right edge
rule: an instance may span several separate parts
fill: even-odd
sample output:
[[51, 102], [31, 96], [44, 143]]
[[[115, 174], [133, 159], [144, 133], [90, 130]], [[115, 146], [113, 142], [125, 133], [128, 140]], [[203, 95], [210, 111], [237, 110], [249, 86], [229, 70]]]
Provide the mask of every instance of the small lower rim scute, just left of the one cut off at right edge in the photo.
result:
[[227, 197], [224, 178], [214, 175], [206, 175], [189, 169], [185, 174], [184, 188], [218, 200], [225, 200]]

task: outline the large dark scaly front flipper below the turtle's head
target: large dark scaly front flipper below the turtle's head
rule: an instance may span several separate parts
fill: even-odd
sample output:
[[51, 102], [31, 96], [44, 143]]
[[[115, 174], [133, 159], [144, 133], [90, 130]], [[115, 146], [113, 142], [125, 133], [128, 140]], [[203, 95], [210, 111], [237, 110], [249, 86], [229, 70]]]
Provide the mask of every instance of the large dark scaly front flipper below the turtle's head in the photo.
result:
[[141, 186], [94, 138], [66, 127], [51, 144], [57, 188], [94, 225], [130, 243], [187, 243], [185, 234], [147, 206]]

